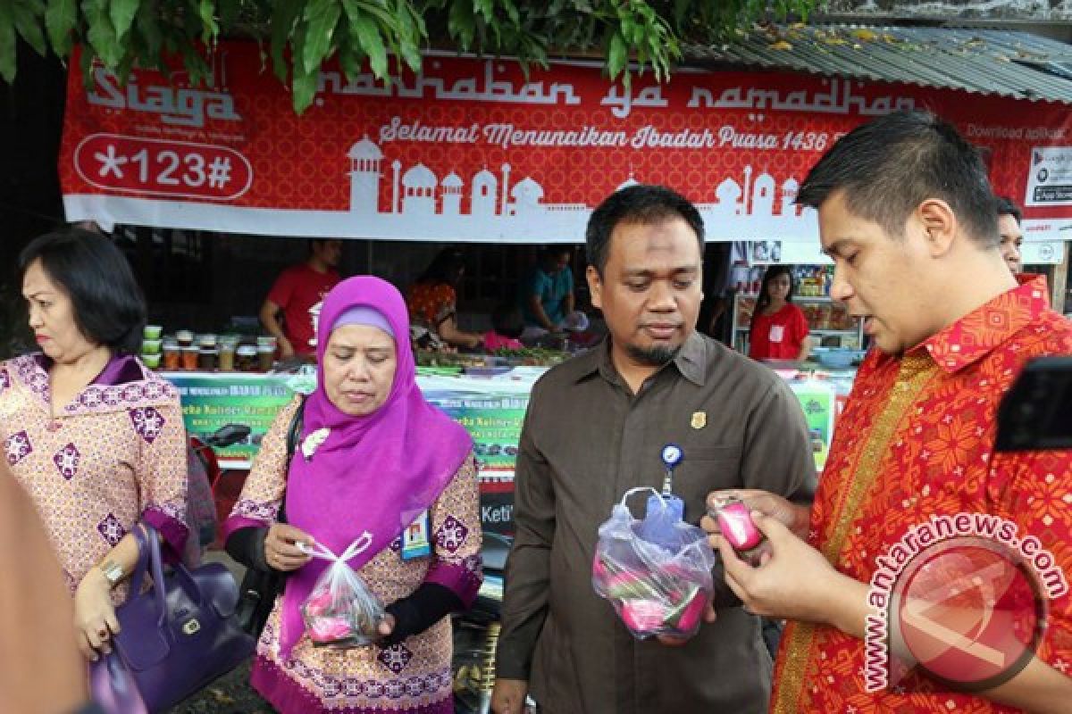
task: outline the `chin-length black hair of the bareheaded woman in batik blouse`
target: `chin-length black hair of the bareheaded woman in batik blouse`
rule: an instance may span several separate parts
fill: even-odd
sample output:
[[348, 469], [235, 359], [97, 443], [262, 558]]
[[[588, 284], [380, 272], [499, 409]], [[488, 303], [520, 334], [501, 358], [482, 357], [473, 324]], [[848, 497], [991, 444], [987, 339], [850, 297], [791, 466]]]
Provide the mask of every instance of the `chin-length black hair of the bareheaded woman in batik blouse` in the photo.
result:
[[115, 243], [80, 228], [39, 236], [18, 256], [19, 285], [36, 260], [71, 299], [86, 339], [126, 354], [140, 350], [145, 295]]

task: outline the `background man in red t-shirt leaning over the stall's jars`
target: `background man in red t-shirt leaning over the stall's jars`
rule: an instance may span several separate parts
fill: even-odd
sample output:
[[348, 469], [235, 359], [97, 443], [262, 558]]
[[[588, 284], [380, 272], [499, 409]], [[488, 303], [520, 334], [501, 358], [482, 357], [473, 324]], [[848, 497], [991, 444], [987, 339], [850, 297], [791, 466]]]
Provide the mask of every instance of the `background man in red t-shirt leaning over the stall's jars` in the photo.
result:
[[[268, 291], [260, 306], [260, 322], [268, 334], [279, 340], [280, 356], [316, 353], [309, 340], [313, 337], [313, 321], [309, 308], [321, 302], [339, 282], [339, 259], [342, 241], [315, 240], [310, 243], [309, 260], [284, 270]], [[279, 314], [283, 313], [280, 324]]]

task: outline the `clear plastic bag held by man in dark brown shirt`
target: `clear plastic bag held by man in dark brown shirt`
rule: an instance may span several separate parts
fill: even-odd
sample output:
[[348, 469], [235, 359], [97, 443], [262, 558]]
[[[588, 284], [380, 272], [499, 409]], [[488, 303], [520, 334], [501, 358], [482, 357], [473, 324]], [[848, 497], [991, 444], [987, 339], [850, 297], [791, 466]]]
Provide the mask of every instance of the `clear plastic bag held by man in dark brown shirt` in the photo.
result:
[[[643, 519], [628, 498], [650, 490]], [[696, 635], [713, 592], [715, 553], [702, 529], [681, 519], [681, 501], [655, 489], [634, 488], [599, 527], [592, 586], [634, 637]]]

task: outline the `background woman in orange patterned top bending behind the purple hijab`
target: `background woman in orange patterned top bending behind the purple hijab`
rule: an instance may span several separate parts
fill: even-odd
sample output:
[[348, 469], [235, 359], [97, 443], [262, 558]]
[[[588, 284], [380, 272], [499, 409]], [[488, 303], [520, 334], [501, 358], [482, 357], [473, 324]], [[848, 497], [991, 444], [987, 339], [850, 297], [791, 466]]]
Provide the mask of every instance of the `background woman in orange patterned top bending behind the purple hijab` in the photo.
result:
[[413, 340], [425, 349], [479, 347], [482, 337], [458, 329], [458, 286], [465, 260], [457, 248], [444, 248], [410, 287], [407, 304]]

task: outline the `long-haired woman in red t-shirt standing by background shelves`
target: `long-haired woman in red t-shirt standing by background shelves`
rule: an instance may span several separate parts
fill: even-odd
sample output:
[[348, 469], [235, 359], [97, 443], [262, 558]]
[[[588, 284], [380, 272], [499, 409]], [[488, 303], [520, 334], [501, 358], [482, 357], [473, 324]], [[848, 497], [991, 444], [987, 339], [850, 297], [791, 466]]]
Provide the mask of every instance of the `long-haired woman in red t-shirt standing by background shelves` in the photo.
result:
[[748, 332], [748, 356], [754, 360], [805, 360], [808, 324], [793, 305], [793, 277], [786, 265], [771, 265], [756, 300]]

